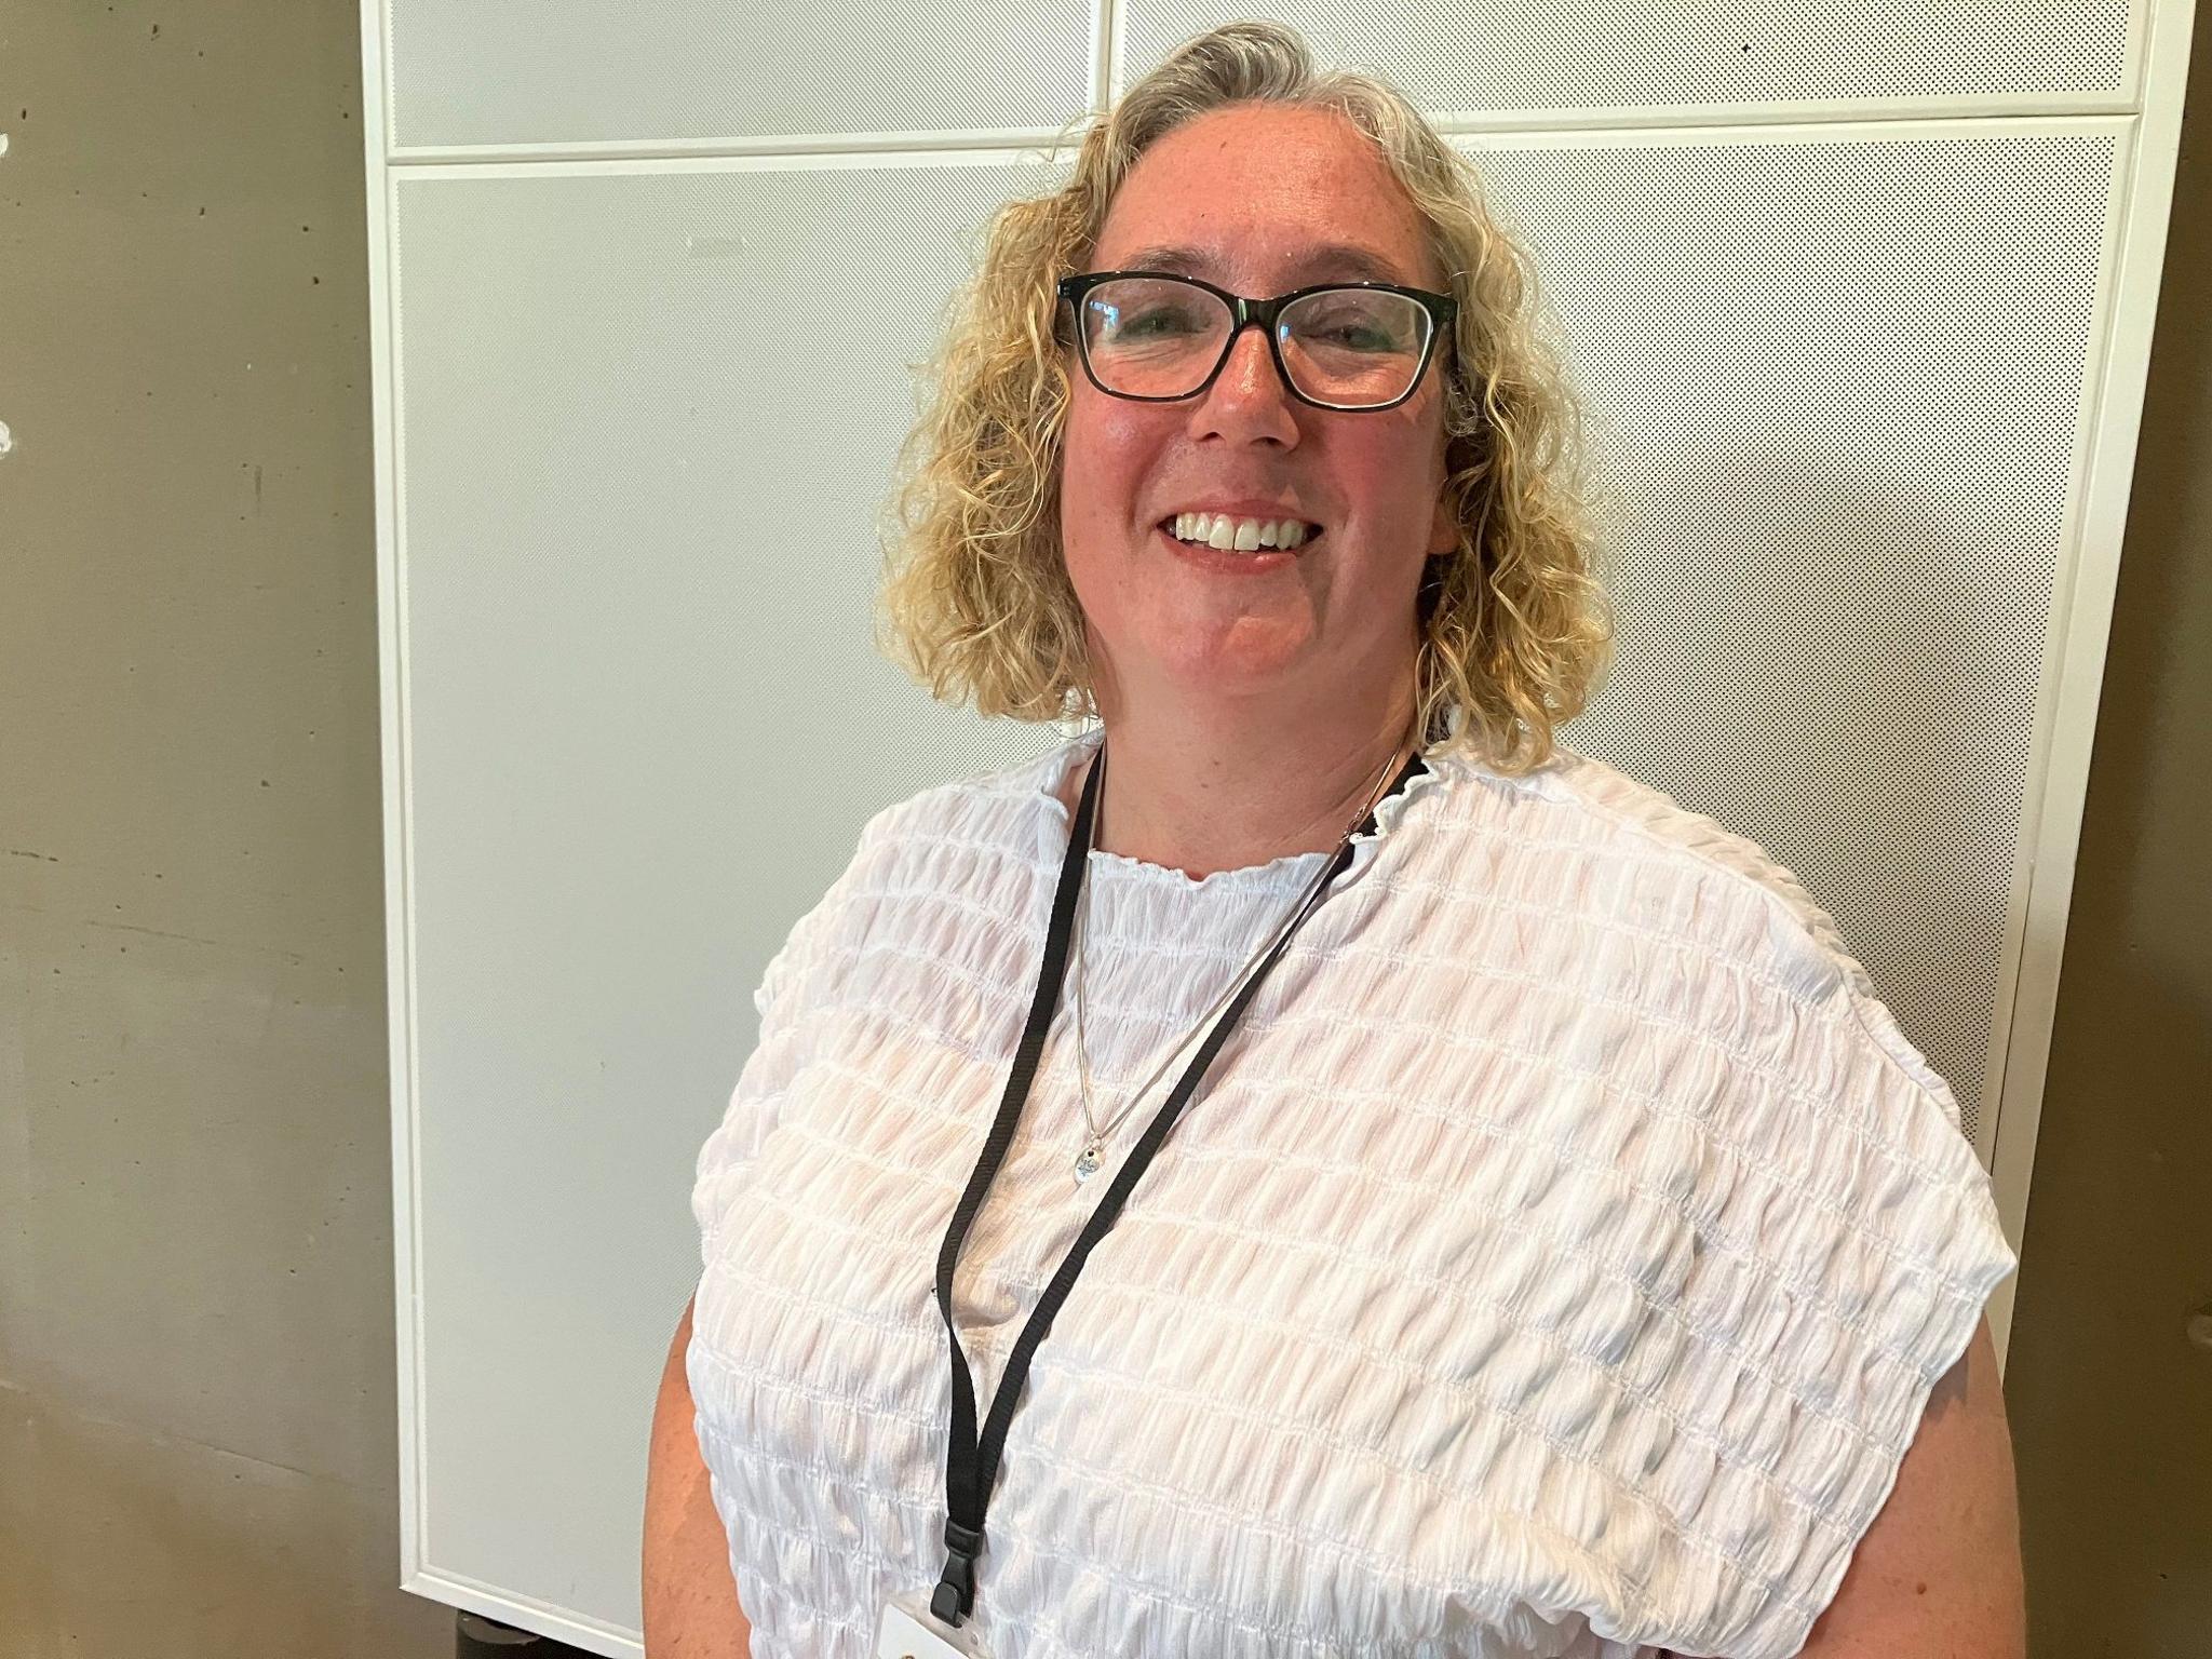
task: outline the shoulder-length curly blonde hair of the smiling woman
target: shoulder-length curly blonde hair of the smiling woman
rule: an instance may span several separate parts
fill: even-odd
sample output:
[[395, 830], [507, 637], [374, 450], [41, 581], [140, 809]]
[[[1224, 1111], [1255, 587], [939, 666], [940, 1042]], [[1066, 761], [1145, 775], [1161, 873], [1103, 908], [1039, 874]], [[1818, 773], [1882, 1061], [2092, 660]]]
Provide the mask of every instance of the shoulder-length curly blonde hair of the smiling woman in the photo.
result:
[[1537, 332], [1535, 274], [1491, 219], [1475, 168], [1402, 93], [1318, 73], [1305, 40], [1272, 22], [1186, 40], [1091, 126], [1060, 190], [991, 217], [980, 268], [922, 365], [936, 396], [898, 451], [878, 648], [933, 697], [971, 699], [984, 717], [1097, 714], [1060, 549], [1068, 372], [1055, 285], [1086, 268], [1137, 157], [1239, 102], [1352, 119], [1451, 272], [1460, 314], [1440, 369], [1444, 500], [1460, 540], [1420, 584], [1418, 717], [1427, 745], [1524, 774], [1551, 757], [1555, 723], [1582, 712], [1613, 653], [1582, 411]]

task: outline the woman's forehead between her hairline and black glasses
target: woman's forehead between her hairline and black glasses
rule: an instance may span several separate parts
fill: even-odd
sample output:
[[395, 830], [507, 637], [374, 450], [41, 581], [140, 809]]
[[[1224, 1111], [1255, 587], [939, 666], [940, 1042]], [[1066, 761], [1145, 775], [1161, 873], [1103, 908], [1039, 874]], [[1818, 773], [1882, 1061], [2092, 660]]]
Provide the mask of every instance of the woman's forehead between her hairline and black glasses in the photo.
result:
[[1237, 104], [1137, 157], [1097, 270], [1177, 270], [1243, 292], [1318, 281], [1442, 288], [1427, 226], [1374, 144], [1329, 111]]

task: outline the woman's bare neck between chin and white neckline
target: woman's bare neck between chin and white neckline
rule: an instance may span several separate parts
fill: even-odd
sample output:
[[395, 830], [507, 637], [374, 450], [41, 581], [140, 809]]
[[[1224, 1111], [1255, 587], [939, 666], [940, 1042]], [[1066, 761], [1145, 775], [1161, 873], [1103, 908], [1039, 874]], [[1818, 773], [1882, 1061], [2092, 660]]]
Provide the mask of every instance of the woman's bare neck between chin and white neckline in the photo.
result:
[[[1334, 852], [1369, 796], [1405, 765], [1413, 690], [1318, 708], [1108, 710], [1097, 845], [1208, 876]], [[1387, 763], [1387, 772], [1385, 772]], [[1071, 768], [1073, 816], [1088, 765]]]

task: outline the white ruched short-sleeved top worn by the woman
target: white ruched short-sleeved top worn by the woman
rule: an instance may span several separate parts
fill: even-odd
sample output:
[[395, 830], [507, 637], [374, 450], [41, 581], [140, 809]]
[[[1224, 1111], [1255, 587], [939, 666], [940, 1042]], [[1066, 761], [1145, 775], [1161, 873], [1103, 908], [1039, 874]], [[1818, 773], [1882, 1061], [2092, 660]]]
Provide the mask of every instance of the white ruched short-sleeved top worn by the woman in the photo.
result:
[[[688, 1374], [757, 1659], [858, 1659], [942, 1571], [936, 1259], [1095, 745], [880, 812], [754, 993]], [[1035, 1354], [995, 1659], [1783, 1659], [2015, 1265], [1951, 1091], [1785, 869], [1571, 750], [1427, 761]], [[1325, 858], [1091, 856], [1102, 1124]], [[1179, 1073], [1079, 1188], [1062, 998], [960, 1256], [978, 1409]]]

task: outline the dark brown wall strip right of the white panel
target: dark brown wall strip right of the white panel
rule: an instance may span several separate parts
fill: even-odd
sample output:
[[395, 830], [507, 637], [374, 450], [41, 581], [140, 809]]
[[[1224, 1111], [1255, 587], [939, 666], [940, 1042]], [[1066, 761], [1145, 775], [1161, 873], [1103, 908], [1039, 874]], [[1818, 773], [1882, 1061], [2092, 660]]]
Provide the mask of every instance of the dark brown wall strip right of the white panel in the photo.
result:
[[2004, 1398], [2037, 1659], [2212, 1655], [2212, 7], [2199, 7]]

